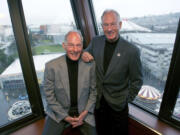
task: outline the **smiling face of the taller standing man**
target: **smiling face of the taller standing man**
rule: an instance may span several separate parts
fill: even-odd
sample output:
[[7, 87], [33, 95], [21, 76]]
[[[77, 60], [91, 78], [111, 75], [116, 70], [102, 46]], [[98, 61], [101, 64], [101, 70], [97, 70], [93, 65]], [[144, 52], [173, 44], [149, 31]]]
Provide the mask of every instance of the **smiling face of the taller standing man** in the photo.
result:
[[108, 12], [104, 15], [102, 19], [102, 27], [108, 41], [114, 42], [118, 39], [121, 22], [118, 22], [115, 13]]

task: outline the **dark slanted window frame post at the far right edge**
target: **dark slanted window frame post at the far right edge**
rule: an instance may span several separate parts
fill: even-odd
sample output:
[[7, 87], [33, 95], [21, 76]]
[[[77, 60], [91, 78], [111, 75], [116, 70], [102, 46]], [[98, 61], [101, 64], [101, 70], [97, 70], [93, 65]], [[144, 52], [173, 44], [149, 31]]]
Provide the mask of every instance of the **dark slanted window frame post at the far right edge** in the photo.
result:
[[159, 119], [180, 129], [180, 120], [173, 117], [174, 107], [179, 94], [180, 87], [180, 19], [176, 32], [176, 39], [166, 86], [159, 111]]

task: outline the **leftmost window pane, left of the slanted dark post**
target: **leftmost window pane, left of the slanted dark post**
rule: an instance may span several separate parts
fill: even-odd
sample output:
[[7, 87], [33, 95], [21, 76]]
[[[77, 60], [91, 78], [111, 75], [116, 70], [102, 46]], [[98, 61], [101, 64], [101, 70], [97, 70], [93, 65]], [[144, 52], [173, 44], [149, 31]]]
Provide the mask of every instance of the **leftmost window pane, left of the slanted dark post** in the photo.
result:
[[0, 7], [0, 126], [31, 113], [7, 1]]

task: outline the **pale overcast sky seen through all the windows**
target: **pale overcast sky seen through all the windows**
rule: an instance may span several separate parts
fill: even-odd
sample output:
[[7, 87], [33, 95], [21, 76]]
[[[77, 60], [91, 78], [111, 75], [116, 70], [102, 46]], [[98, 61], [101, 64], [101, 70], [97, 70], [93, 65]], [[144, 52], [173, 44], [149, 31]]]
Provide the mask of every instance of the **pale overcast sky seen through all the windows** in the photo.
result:
[[[0, 24], [10, 24], [6, 0], [0, 0]], [[123, 18], [180, 12], [180, 0], [92, 0], [99, 20], [105, 9], [113, 8]], [[74, 22], [68, 0], [22, 0], [27, 24]]]

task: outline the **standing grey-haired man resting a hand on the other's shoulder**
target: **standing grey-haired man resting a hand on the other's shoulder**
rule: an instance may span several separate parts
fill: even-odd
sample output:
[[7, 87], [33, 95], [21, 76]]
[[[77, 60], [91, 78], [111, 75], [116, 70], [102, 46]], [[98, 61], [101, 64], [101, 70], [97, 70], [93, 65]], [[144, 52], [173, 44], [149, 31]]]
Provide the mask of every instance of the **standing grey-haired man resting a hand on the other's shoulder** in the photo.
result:
[[119, 35], [122, 22], [115, 10], [105, 10], [104, 35], [94, 37], [82, 58], [96, 62], [98, 135], [128, 134], [128, 102], [143, 83], [139, 49]]

